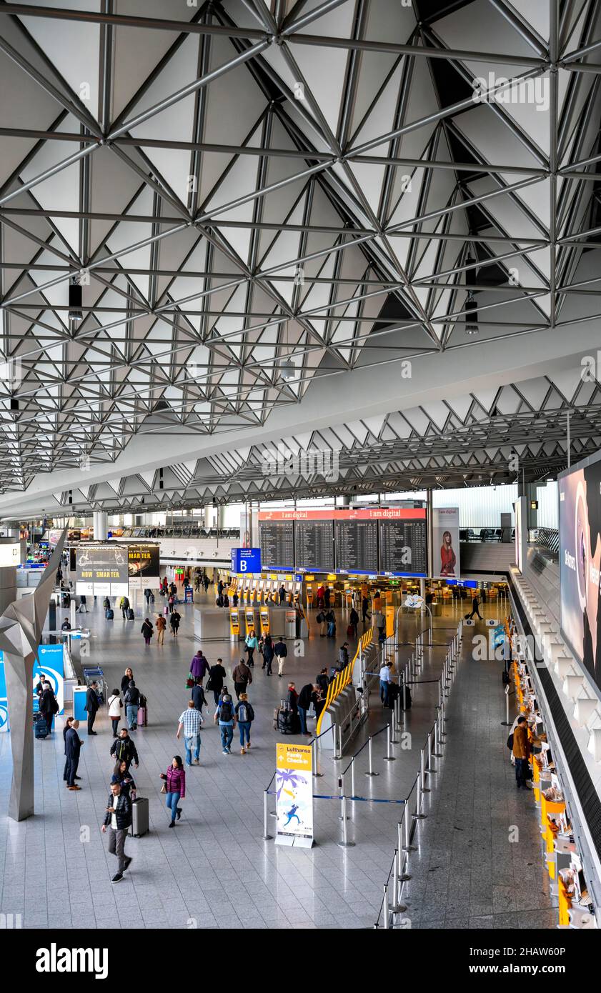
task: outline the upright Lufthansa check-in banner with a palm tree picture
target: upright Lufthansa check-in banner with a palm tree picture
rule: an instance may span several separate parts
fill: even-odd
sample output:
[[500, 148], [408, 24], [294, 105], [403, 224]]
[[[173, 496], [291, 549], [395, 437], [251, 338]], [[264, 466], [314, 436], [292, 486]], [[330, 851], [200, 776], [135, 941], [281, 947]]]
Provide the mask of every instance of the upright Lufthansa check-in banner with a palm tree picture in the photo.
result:
[[313, 776], [311, 746], [278, 743], [275, 795], [276, 845], [313, 845]]

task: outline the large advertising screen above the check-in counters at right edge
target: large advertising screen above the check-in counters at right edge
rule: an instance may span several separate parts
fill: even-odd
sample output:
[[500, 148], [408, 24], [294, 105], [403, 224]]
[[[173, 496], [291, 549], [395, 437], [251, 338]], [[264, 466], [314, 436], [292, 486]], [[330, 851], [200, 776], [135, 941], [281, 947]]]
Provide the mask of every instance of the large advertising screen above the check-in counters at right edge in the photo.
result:
[[561, 635], [601, 686], [601, 457], [557, 477]]

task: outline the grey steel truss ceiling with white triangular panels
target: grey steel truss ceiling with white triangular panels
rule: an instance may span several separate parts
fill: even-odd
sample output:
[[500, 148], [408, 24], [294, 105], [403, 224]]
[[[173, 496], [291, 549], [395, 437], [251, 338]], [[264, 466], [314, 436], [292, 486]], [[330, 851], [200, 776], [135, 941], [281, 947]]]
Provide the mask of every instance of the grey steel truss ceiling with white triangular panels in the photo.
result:
[[[155, 424], [201, 451], [317, 377], [469, 362], [500, 338], [543, 349], [599, 320], [595, 0], [72, 3], [0, 2], [1, 493], [82, 459], [108, 475]], [[502, 102], [503, 77], [528, 98]], [[310, 441], [339, 453], [338, 482], [263, 477], [261, 446], [225, 440], [220, 458], [167, 462], [160, 491], [146, 474], [80, 497], [470, 485], [512, 478], [521, 447], [541, 478], [565, 465], [566, 409], [575, 453], [598, 447], [584, 386], [536, 402], [504, 387], [506, 412], [473, 397], [444, 423], [350, 414]]]

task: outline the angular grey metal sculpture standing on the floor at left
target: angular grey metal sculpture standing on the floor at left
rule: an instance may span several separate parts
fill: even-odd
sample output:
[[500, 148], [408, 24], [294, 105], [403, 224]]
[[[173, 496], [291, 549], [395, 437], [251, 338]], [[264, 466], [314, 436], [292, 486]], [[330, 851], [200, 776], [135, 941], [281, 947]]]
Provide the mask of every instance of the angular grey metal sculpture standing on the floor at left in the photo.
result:
[[37, 589], [31, 596], [13, 601], [0, 617], [0, 648], [4, 652], [13, 752], [13, 781], [8, 815], [14, 820], [25, 820], [34, 812], [34, 662], [66, 539], [67, 528], [57, 543]]

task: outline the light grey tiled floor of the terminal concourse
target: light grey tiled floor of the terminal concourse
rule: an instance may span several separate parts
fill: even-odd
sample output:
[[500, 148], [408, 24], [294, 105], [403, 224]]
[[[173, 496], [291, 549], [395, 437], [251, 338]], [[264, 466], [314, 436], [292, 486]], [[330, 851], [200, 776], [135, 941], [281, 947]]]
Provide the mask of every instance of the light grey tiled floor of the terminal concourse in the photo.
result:
[[[183, 606], [181, 613], [180, 638], [174, 642], [167, 636], [163, 648], [154, 641], [145, 647], [137, 618], [127, 623], [117, 614], [110, 624], [97, 608], [88, 618], [96, 636], [90, 641], [90, 662], [102, 666], [110, 688], [119, 685], [125, 666], [131, 665], [149, 700], [149, 727], [135, 733], [140, 754], [135, 779], [140, 794], [150, 800], [151, 830], [144, 838], [127, 840], [134, 861], [126, 879], [111, 885], [115, 860], [99, 830], [112, 767], [104, 714], [96, 721], [97, 737], [89, 740], [80, 729], [86, 742], [78, 793], [63, 784], [62, 722], [54, 740], [36, 742], [36, 815], [20, 824], [5, 815], [10, 736], [0, 735], [0, 910], [21, 914], [25, 927], [372, 927], [395, 845], [398, 805], [354, 803], [349, 822], [354, 848], [337, 845], [340, 807], [330, 799], [315, 800], [317, 844], [310, 851], [281, 848], [262, 838], [263, 790], [275, 760], [272, 711], [285, 679], [268, 679], [255, 666], [250, 755], [225, 757], [219, 731], [208, 723], [201, 767], [188, 772], [184, 816], [168, 830], [159, 774], [174, 753], [183, 754], [175, 732], [188, 699], [185, 681], [194, 653], [193, 609]], [[426, 649], [421, 678], [438, 677], [444, 642], [459, 616], [449, 608], [447, 617], [434, 619], [440, 629], [434, 640], [441, 643]], [[416, 624], [404, 621], [403, 639], [414, 638]], [[344, 631], [341, 617], [339, 632]], [[300, 689], [335, 659], [337, 647], [338, 642], [309, 638], [304, 657], [289, 656], [286, 675]], [[211, 643], [205, 650], [211, 661], [222, 655], [228, 672], [239, 658], [229, 643]], [[402, 657], [409, 651], [402, 648]], [[504, 697], [498, 668], [473, 661], [469, 638], [464, 639], [464, 661], [447, 711], [445, 756], [435, 778], [440, 781], [428, 794], [426, 811], [431, 805], [431, 813], [420, 823], [419, 851], [411, 856], [406, 902], [412, 926], [554, 923], [533, 804], [515, 788], [506, 729], [500, 726]], [[369, 730], [376, 732], [384, 719], [376, 696], [372, 699]], [[436, 700], [435, 683], [415, 687], [406, 721], [412, 750], [395, 746], [395, 761], [386, 763], [385, 736], [380, 735], [374, 747], [380, 775], [374, 779], [364, 775], [364, 751], [357, 763], [357, 790], [367, 800], [406, 794]], [[336, 792], [340, 766], [323, 756], [324, 776], [314, 780], [316, 793]], [[508, 841], [511, 824], [520, 827], [518, 844]]]

